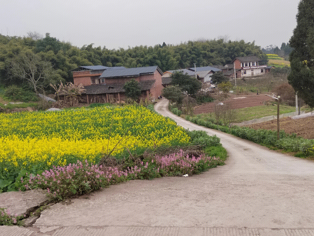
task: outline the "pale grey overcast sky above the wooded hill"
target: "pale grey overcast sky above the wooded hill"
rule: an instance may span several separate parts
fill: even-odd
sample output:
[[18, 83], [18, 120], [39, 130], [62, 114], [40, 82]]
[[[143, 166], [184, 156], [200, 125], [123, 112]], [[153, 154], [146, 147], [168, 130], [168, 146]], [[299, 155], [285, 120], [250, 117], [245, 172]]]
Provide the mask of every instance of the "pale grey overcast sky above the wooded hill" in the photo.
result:
[[0, 0], [0, 33], [27, 31], [82, 47], [178, 44], [200, 37], [255, 40], [266, 47], [288, 42], [299, 0]]

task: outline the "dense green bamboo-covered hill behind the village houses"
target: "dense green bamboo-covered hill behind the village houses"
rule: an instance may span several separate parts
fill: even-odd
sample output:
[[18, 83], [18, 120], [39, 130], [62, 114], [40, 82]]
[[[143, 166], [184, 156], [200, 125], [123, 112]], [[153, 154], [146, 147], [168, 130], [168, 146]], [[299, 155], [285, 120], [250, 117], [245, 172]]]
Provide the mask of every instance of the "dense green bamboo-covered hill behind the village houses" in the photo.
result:
[[118, 50], [93, 47], [93, 44], [75, 47], [69, 42], [61, 42], [51, 37], [33, 39], [31, 37], [8, 37], [0, 35], [0, 73], [6, 78], [6, 69], [10, 61], [26, 51], [38, 53], [42, 59], [51, 61], [56, 80], [71, 81], [72, 70], [79, 65], [105, 65], [140, 67], [158, 65], [161, 70], [197, 66], [225, 65], [236, 56], [254, 54], [265, 59], [261, 48], [254, 42], [224, 42], [220, 40], [188, 41], [179, 45], [156, 45], [154, 47], [137, 46]]

